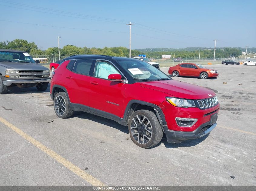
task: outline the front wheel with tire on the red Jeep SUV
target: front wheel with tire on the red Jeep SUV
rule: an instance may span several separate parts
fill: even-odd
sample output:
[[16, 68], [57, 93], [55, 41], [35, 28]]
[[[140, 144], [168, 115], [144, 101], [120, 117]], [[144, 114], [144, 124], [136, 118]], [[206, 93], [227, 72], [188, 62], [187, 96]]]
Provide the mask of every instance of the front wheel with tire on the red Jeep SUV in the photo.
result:
[[131, 140], [142, 148], [157, 145], [163, 137], [161, 125], [152, 111], [135, 111], [129, 119], [128, 128]]

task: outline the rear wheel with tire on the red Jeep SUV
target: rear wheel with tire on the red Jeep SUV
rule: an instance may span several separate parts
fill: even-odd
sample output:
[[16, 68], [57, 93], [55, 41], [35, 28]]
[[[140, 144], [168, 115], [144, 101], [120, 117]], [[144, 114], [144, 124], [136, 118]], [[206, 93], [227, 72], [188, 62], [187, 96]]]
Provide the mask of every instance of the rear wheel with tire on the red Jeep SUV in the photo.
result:
[[59, 92], [54, 96], [54, 111], [59, 118], [67, 118], [73, 115], [71, 110], [68, 97], [65, 92]]

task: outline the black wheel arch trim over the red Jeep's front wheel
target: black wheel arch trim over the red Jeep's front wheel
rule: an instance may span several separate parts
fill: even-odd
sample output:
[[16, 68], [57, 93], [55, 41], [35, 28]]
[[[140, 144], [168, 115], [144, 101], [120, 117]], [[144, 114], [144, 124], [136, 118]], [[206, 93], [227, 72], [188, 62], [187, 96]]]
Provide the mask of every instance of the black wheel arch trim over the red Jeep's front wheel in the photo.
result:
[[145, 102], [145, 101], [141, 101], [141, 100], [131, 100], [128, 102], [128, 104], [125, 108], [125, 112], [124, 112], [123, 124], [125, 126], [128, 126], [128, 121], [129, 121], [130, 116], [135, 111], [142, 110], [142, 109], [153, 111], [156, 114], [158, 121], [162, 127], [164, 125], [165, 126], [167, 125], [167, 122], [165, 120], [165, 115], [160, 107], [158, 107], [157, 105], [155, 105], [153, 103], [149, 103], [149, 102]]

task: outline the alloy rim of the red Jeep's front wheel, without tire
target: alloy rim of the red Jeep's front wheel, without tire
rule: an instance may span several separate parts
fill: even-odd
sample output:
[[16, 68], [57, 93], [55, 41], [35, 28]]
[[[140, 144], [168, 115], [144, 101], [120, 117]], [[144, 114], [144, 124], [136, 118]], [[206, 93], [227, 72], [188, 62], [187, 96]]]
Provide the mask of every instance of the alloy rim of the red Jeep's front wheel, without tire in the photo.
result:
[[136, 115], [131, 122], [131, 135], [139, 144], [146, 144], [152, 138], [152, 125], [143, 115]]

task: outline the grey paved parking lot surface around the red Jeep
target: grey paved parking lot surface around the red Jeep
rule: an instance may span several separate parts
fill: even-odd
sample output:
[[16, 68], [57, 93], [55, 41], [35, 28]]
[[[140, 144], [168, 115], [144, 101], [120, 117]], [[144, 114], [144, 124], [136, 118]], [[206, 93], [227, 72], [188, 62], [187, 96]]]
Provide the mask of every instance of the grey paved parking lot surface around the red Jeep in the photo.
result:
[[217, 94], [217, 127], [180, 144], [163, 138], [151, 149], [109, 119], [82, 112], [58, 118], [49, 87], [12, 88], [0, 95], [0, 185], [256, 185], [256, 66], [208, 67], [220, 76], [175, 80]]

